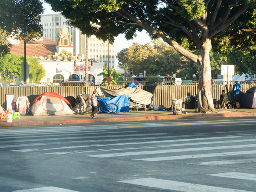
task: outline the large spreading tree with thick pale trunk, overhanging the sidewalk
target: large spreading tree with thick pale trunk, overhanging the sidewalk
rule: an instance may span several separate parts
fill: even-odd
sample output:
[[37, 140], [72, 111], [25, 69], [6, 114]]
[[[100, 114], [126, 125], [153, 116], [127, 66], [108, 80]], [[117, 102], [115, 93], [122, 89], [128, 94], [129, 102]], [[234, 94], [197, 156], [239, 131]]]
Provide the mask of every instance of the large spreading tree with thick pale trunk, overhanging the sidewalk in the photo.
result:
[[[255, 0], [46, 0], [84, 33], [103, 40], [145, 29], [199, 68], [198, 111], [215, 111], [210, 50], [253, 46]], [[241, 41], [242, 44], [241, 44]], [[185, 49], [196, 49], [198, 54]]]

